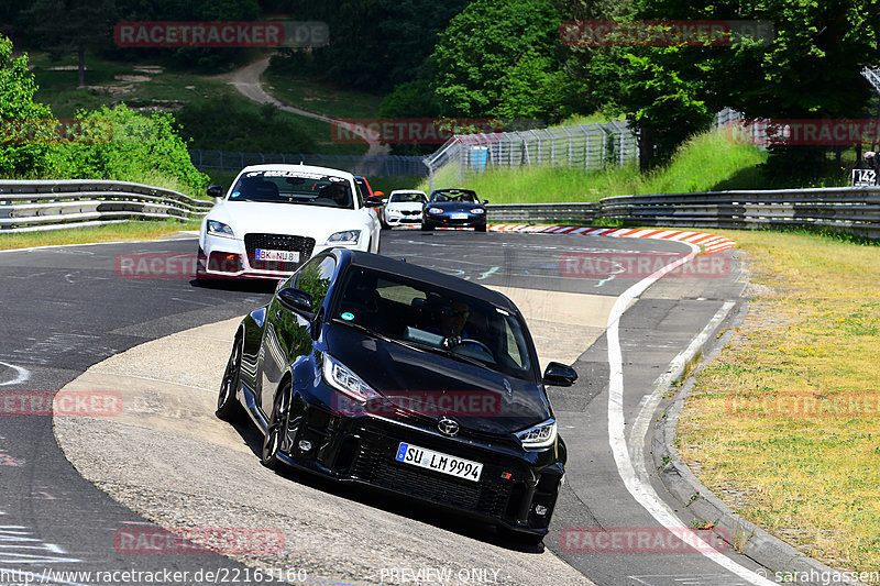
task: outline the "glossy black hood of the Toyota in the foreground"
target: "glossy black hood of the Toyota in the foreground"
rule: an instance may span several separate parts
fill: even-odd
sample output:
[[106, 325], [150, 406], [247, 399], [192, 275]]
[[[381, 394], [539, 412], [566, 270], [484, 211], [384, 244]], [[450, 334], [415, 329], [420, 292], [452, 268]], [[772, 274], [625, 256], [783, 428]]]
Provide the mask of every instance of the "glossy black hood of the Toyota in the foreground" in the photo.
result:
[[391, 402], [411, 414], [451, 417], [462, 428], [493, 434], [551, 417], [537, 382], [386, 342], [338, 322], [328, 323], [324, 335], [330, 354], [387, 399], [367, 405], [369, 412], [391, 416]]

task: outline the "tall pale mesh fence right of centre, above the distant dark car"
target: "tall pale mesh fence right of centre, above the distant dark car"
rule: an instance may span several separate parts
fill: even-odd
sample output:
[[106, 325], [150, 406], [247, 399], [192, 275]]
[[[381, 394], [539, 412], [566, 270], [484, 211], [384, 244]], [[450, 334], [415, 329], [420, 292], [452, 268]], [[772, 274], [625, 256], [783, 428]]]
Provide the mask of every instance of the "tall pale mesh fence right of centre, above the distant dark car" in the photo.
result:
[[585, 172], [630, 165], [638, 167], [638, 141], [626, 122], [578, 124], [540, 130], [457, 134], [425, 158], [431, 177], [455, 167], [465, 173], [491, 167], [575, 167]]

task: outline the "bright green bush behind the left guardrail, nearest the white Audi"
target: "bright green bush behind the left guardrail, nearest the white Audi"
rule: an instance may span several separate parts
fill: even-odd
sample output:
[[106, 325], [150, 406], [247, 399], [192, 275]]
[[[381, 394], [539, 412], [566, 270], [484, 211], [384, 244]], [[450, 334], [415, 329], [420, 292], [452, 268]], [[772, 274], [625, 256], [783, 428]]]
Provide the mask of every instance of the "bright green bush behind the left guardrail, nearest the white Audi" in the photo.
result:
[[80, 113], [78, 118], [92, 121], [97, 128], [109, 132], [91, 143], [74, 142], [54, 147], [46, 175], [58, 179], [176, 185], [190, 195], [201, 195], [208, 177], [193, 166], [170, 114], [144, 115], [123, 104], [112, 109], [102, 107], [95, 112]]

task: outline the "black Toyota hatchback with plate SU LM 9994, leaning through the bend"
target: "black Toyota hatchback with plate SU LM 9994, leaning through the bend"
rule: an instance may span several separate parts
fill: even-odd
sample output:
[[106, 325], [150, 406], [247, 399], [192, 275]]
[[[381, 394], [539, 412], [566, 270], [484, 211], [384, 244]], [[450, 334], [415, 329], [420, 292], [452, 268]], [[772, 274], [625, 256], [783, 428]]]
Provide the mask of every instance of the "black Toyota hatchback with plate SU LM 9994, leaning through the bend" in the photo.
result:
[[540, 373], [507, 297], [332, 248], [241, 322], [217, 416], [246, 412], [271, 468], [364, 483], [537, 542], [565, 464], [544, 385], [576, 378], [559, 363]]

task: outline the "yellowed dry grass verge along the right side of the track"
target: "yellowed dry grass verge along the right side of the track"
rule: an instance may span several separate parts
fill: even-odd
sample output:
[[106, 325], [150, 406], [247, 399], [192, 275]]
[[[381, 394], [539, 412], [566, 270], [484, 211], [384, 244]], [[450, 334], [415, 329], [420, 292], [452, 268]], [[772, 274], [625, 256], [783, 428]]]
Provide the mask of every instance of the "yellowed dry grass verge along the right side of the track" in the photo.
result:
[[737, 512], [835, 567], [880, 567], [880, 246], [726, 232], [766, 285], [697, 375], [683, 457]]

